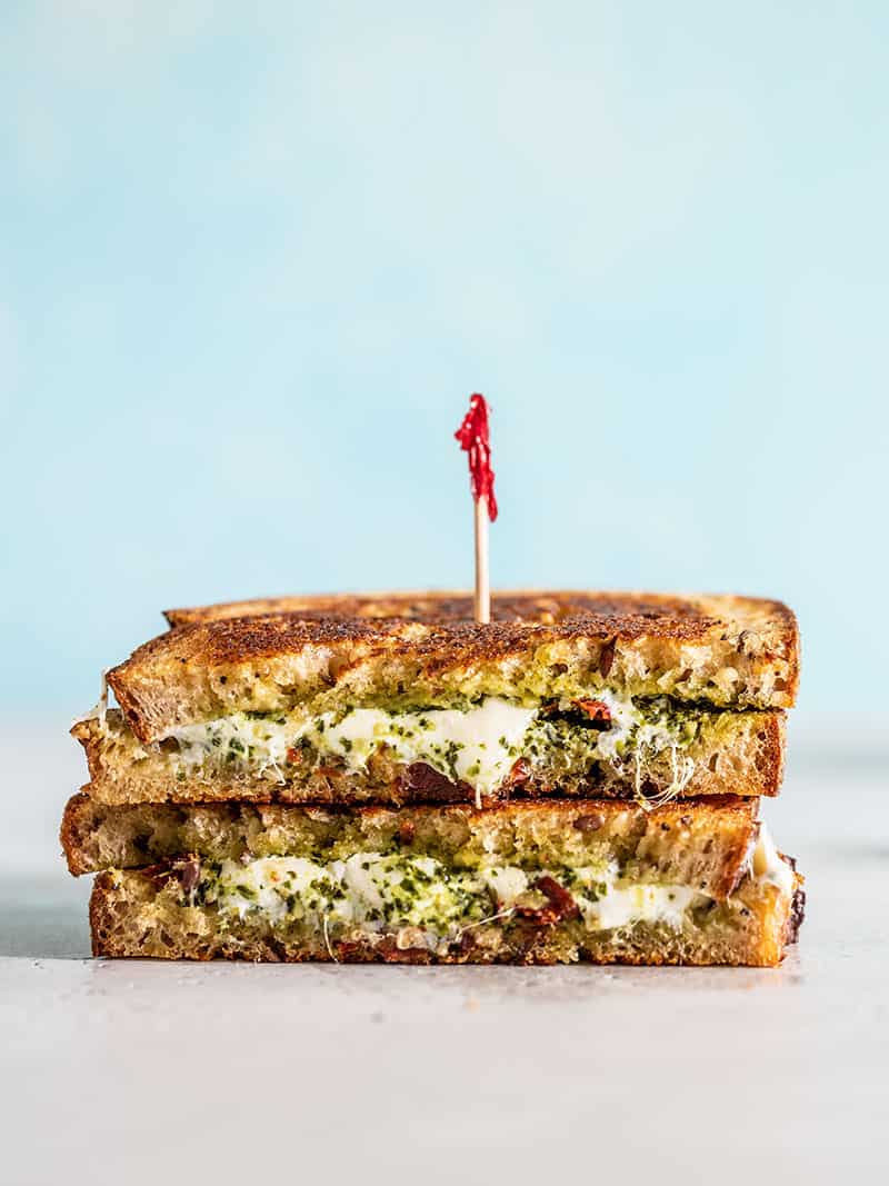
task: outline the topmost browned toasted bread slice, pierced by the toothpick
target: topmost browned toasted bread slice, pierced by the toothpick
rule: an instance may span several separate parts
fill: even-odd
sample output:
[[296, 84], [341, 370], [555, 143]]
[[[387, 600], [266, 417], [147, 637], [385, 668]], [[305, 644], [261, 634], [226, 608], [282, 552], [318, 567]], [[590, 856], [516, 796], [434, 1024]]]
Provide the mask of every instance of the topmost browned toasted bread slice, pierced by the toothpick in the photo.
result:
[[[252, 605], [252, 608], [251, 608]], [[258, 611], [258, 612], [257, 612]], [[168, 633], [108, 675], [134, 733], [250, 709], [409, 697], [563, 700], [600, 689], [785, 708], [799, 640], [778, 601], [724, 595], [504, 593], [492, 624], [454, 594], [279, 599], [168, 612]]]

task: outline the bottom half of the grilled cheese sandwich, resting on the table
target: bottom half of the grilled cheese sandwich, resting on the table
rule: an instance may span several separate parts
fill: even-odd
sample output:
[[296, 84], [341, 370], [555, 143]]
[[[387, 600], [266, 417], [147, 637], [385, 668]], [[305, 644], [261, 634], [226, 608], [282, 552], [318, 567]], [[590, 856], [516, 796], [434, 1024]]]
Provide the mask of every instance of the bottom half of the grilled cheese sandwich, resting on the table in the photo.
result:
[[109, 806], [63, 843], [98, 872], [100, 956], [386, 963], [780, 963], [802, 879], [755, 799], [487, 810]]

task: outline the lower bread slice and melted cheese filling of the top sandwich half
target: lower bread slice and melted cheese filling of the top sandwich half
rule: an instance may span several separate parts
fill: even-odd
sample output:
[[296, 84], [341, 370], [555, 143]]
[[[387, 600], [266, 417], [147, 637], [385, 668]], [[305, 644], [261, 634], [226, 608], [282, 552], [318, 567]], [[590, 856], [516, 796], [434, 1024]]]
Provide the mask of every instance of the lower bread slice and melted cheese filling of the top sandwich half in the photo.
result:
[[784, 713], [714, 712], [610, 693], [526, 707], [237, 713], [140, 741], [122, 715], [78, 722], [107, 803], [500, 802], [545, 796], [776, 795]]

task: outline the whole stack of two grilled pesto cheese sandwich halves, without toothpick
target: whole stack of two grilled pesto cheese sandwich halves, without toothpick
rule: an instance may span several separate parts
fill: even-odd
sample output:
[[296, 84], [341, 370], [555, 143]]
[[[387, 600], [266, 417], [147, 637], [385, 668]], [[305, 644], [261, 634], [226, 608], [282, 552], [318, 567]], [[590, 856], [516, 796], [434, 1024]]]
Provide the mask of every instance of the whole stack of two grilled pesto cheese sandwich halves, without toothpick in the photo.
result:
[[75, 728], [96, 955], [776, 964], [773, 601], [397, 594], [171, 611]]

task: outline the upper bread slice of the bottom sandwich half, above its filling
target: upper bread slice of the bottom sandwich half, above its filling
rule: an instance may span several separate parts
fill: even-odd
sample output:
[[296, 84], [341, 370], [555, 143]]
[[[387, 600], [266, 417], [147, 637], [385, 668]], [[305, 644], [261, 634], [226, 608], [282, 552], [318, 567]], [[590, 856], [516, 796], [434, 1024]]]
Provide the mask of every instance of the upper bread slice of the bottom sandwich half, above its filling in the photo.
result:
[[72, 873], [154, 865], [186, 855], [220, 861], [345, 860], [398, 850], [466, 866], [482, 857], [531, 867], [612, 865], [635, 881], [689, 885], [727, 898], [759, 834], [757, 801], [714, 796], [646, 811], [619, 799], [468, 806], [326, 808], [239, 803], [108, 806], [88, 795], [65, 808]]

